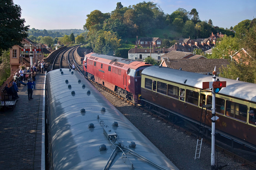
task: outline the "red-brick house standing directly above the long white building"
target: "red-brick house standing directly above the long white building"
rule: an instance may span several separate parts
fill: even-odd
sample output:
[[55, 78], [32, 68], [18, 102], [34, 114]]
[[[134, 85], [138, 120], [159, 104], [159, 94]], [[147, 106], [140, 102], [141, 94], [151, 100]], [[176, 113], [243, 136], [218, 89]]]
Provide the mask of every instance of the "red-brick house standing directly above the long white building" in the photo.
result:
[[141, 37], [136, 41], [136, 46], [141, 47], [151, 47], [155, 45], [156, 47], [160, 47], [162, 45], [162, 40], [160, 38], [150, 38], [150, 37]]

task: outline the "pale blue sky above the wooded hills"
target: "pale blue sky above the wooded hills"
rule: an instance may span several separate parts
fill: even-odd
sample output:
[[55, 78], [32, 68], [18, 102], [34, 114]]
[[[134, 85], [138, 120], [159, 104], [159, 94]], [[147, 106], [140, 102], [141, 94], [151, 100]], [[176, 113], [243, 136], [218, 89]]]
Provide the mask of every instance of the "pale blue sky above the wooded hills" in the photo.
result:
[[[123, 6], [136, 5], [143, 0], [13, 0], [20, 5], [21, 18], [30, 29], [83, 29], [86, 15], [95, 9], [103, 13], [116, 9], [116, 3]], [[146, 1], [148, 2], [148, 1]], [[201, 21], [212, 19], [214, 26], [230, 28], [245, 19], [256, 17], [256, 0], [155, 0], [165, 14], [171, 14], [178, 8], [199, 12]]]

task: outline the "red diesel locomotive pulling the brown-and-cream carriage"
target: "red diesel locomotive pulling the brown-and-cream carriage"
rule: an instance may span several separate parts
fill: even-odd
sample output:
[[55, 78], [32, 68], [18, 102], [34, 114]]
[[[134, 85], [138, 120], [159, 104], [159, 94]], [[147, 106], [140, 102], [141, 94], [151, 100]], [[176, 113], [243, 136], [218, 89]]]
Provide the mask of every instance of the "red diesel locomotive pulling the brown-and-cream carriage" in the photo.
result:
[[151, 64], [97, 53], [87, 54], [83, 63], [86, 77], [140, 103], [141, 72]]

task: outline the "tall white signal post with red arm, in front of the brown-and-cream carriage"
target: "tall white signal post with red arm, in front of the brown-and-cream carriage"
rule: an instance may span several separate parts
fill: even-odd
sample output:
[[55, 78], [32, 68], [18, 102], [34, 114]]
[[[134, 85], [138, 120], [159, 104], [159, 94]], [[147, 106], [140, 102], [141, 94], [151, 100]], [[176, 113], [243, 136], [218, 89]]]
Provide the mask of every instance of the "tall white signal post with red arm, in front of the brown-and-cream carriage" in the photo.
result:
[[[212, 153], [211, 153], [211, 169], [215, 170], [215, 121], [219, 119], [218, 116], [215, 115], [215, 94], [219, 93], [222, 87], [226, 87], [226, 81], [219, 81], [217, 79], [216, 81], [216, 67], [214, 68], [214, 71], [212, 72], [212, 82], [203, 82], [203, 89], [209, 89], [212, 88]], [[202, 140], [202, 139], [201, 139]], [[202, 143], [202, 141], [201, 141]], [[197, 139], [197, 146], [198, 146], [198, 139]], [[196, 150], [196, 154], [197, 154]], [[201, 145], [199, 150], [199, 157], [201, 152]], [[198, 157], [198, 158], [199, 158]], [[195, 156], [196, 158], [196, 156]], [[217, 167], [218, 168], [218, 167]]]

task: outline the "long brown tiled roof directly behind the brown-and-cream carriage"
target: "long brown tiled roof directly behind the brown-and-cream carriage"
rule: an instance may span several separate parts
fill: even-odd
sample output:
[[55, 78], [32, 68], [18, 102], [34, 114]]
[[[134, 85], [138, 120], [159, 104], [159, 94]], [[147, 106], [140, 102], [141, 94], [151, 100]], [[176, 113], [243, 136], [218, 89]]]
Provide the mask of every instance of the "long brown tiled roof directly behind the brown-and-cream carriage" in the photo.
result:
[[212, 73], [214, 67], [216, 66], [217, 73], [220, 73], [219, 68], [222, 66], [227, 67], [229, 65], [228, 59], [165, 59], [165, 64], [167, 67], [172, 69], [180, 69], [184, 71], [194, 72], [194, 73]]

